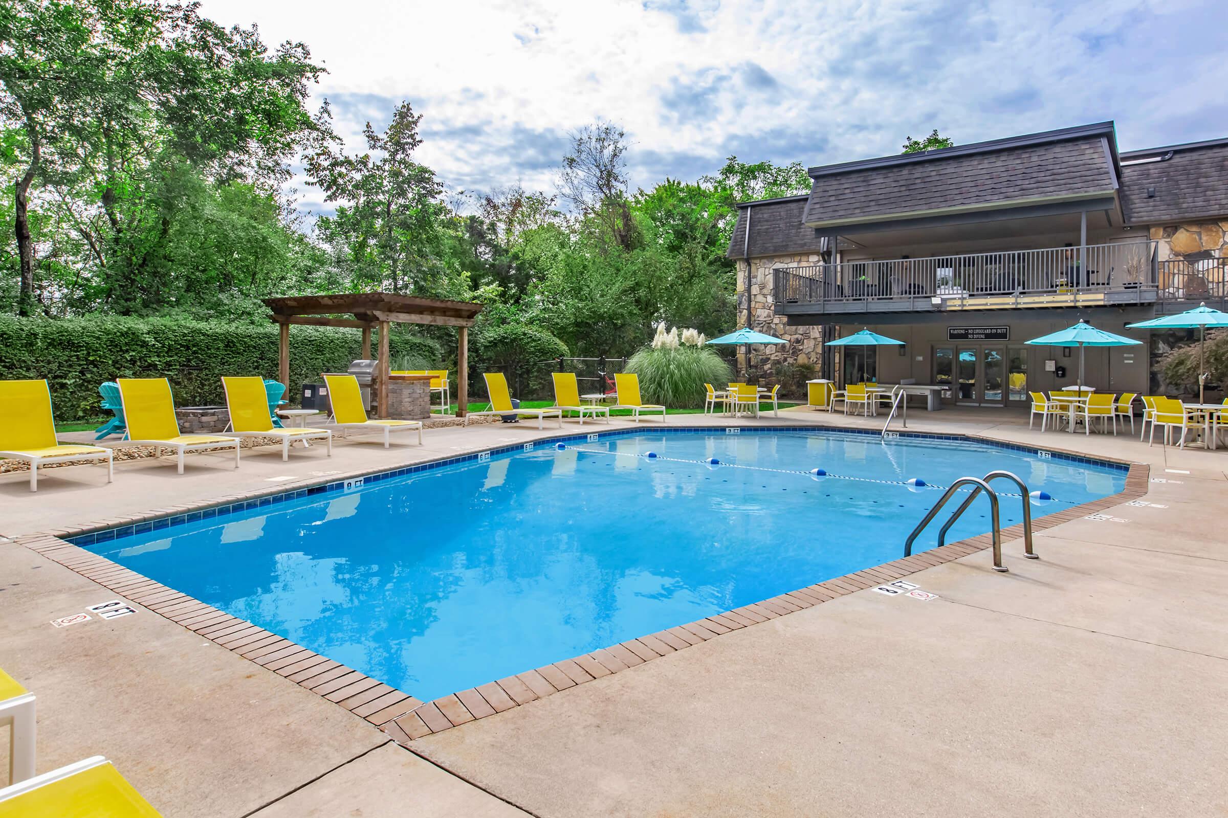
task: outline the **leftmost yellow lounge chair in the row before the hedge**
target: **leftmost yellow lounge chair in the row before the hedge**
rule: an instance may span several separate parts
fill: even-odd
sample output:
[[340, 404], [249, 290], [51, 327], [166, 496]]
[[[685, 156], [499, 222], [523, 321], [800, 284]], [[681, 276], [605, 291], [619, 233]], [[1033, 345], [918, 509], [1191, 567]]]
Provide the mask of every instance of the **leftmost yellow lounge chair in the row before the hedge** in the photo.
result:
[[0, 459], [29, 464], [29, 491], [38, 491], [38, 467], [72, 460], [107, 461], [107, 482], [114, 478], [111, 449], [61, 445], [55, 438], [52, 392], [45, 380], [0, 380]]

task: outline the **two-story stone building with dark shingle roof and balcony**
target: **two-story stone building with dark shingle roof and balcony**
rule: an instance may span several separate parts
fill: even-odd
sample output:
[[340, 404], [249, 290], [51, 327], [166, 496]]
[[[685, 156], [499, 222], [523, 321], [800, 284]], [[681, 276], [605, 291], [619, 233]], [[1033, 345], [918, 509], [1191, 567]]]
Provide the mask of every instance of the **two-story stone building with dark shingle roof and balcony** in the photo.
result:
[[[738, 205], [739, 309], [790, 341], [753, 350], [763, 375], [809, 363], [841, 384], [1027, 406], [1073, 383], [1078, 358], [1024, 341], [1084, 319], [1144, 342], [1088, 350], [1087, 383], [1144, 394], [1189, 334], [1125, 325], [1228, 309], [1228, 140], [1119, 153], [1109, 121], [809, 175], [809, 195]], [[862, 327], [905, 346], [823, 346]]]

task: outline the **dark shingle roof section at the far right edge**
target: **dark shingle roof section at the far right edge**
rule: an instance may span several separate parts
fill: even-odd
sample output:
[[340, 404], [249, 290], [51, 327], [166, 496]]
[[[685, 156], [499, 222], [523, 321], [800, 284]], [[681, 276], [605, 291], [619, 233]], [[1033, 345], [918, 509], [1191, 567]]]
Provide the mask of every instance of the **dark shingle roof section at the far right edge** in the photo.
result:
[[[1122, 153], [1121, 159], [1162, 162], [1121, 166], [1121, 206], [1126, 222], [1146, 224], [1228, 216], [1228, 140]], [[1148, 197], [1148, 188], [1154, 196]]]

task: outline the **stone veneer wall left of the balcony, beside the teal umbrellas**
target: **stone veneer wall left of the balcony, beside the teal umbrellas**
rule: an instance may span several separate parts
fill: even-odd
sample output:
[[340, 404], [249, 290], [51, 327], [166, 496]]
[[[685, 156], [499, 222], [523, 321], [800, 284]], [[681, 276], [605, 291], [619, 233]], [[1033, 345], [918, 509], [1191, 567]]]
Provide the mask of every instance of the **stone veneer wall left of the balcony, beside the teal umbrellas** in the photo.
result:
[[[747, 261], [738, 264], [738, 323], [747, 315]], [[755, 374], [771, 379], [777, 364], [810, 364], [818, 370], [823, 338], [818, 326], [790, 326], [783, 315], [776, 315], [772, 298], [772, 270], [777, 267], [804, 267], [819, 264], [818, 254], [777, 255], [750, 259], [750, 329], [756, 332], [786, 338], [788, 345], [756, 346], [750, 356]], [[739, 370], [745, 365], [744, 348], [738, 350]]]

